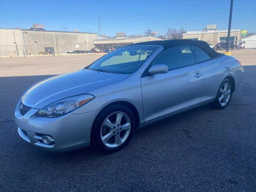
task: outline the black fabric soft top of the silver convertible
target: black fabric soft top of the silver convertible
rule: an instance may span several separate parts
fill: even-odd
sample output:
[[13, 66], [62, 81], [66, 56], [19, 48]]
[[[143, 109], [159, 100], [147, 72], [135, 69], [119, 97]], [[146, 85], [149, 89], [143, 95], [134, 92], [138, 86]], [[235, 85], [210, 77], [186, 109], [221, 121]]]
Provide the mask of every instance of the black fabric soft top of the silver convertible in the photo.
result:
[[221, 55], [221, 53], [218, 53], [214, 51], [212, 48], [210, 48], [208, 43], [206, 43], [205, 41], [198, 41], [198, 40], [194, 41], [190, 39], [147, 41], [147, 42], [140, 42], [140, 43], [135, 43], [131, 45], [158, 45], [158, 46], [163, 46], [164, 49], [166, 49], [166, 48], [169, 48], [170, 46], [183, 45], [183, 44], [197, 46], [202, 50], [204, 50], [211, 58]]

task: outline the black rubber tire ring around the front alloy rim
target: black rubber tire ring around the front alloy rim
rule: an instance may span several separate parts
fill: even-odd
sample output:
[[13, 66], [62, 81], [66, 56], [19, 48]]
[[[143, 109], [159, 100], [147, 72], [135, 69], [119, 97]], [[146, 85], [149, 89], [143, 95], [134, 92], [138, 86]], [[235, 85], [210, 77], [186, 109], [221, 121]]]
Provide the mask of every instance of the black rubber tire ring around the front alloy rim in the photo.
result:
[[[117, 111], [124, 112], [129, 116], [130, 121], [131, 121], [131, 130], [130, 130], [130, 134], [129, 134], [128, 138], [120, 146], [111, 148], [111, 147], [106, 146], [102, 142], [101, 137], [100, 137], [100, 132], [101, 132], [101, 126], [102, 126], [104, 120], [110, 114], [112, 114], [114, 112], [117, 112]], [[95, 118], [93, 126], [92, 126], [92, 134], [91, 134], [92, 144], [96, 148], [98, 148], [99, 150], [101, 150], [105, 153], [113, 153], [113, 152], [116, 152], [118, 150], [121, 150], [130, 141], [130, 139], [132, 137], [132, 133], [134, 131], [134, 126], [135, 126], [135, 118], [134, 118], [134, 114], [132, 113], [130, 108], [128, 108], [126, 106], [122, 106], [122, 105], [115, 105], [115, 106], [111, 106], [111, 107], [108, 107], [106, 109], [103, 109], [98, 114], [98, 116]]]

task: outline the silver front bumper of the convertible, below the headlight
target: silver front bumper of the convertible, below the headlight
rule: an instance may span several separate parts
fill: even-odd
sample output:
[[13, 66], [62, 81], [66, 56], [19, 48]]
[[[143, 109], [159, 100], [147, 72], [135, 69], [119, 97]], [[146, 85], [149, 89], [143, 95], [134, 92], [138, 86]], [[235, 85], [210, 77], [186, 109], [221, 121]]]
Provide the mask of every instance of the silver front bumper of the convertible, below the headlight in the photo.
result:
[[[37, 117], [38, 109], [30, 109], [24, 116], [15, 109], [15, 123], [19, 135], [30, 144], [52, 152], [74, 150], [90, 145], [90, 133], [96, 111], [83, 114], [68, 113], [57, 118]], [[42, 136], [51, 136], [45, 144]]]

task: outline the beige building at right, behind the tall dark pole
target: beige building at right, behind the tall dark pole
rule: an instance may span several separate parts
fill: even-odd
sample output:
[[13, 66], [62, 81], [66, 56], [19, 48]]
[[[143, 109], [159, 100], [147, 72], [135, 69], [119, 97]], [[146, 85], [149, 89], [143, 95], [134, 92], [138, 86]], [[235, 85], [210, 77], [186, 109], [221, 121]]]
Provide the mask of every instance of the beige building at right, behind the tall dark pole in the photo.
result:
[[[230, 31], [230, 43], [238, 45], [240, 42], [240, 29]], [[227, 42], [228, 30], [192, 31], [182, 34], [183, 39], [202, 40], [212, 45]]]

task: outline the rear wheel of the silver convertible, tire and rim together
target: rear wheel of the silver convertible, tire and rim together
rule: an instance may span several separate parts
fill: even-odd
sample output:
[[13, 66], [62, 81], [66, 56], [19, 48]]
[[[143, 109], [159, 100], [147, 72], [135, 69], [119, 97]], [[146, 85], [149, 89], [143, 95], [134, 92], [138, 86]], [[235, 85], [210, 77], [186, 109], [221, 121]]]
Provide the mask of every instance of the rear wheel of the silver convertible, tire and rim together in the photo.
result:
[[210, 103], [211, 106], [217, 109], [224, 109], [226, 106], [228, 106], [231, 100], [232, 92], [233, 88], [230, 80], [225, 79], [218, 89], [218, 93], [214, 102]]

